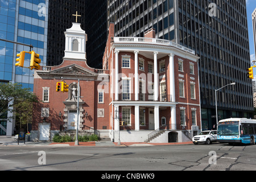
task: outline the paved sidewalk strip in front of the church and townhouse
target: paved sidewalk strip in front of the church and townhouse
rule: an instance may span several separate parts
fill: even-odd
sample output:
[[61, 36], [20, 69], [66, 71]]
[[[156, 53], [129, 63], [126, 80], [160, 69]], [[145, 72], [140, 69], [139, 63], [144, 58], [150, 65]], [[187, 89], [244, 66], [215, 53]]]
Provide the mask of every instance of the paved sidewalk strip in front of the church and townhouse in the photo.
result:
[[[146, 142], [121, 142], [118, 145], [117, 142], [79, 142], [79, 146], [160, 146], [160, 145], [173, 145], [173, 144], [193, 144], [193, 142], [181, 142], [181, 143], [146, 143]], [[14, 140], [13, 137], [0, 136], [0, 146], [75, 146], [75, 142], [54, 143], [54, 142], [25, 142]]]

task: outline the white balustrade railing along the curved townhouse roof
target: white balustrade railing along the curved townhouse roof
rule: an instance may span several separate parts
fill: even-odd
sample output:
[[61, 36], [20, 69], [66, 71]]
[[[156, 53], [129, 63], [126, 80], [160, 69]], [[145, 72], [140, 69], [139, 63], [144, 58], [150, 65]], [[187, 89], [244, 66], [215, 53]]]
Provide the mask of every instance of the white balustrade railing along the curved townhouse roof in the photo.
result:
[[154, 38], [132, 38], [132, 37], [114, 37], [114, 43], [151, 43], [151, 44], [159, 44], [163, 46], [172, 46], [178, 49], [181, 49], [185, 52], [192, 53], [195, 55], [195, 51], [189, 49], [187, 47], [181, 46], [175, 42], [164, 39], [154, 39]]

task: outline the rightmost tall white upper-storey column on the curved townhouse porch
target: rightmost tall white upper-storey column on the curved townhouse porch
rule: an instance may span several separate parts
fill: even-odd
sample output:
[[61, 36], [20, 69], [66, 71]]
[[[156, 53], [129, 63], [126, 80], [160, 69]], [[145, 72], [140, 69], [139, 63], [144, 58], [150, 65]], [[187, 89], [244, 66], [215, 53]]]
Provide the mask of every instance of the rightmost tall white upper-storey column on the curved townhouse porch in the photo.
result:
[[174, 54], [169, 55], [169, 67], [170, 67], [170, 95], [171, 102], [175, 102], [175, 74], [174, 74]]

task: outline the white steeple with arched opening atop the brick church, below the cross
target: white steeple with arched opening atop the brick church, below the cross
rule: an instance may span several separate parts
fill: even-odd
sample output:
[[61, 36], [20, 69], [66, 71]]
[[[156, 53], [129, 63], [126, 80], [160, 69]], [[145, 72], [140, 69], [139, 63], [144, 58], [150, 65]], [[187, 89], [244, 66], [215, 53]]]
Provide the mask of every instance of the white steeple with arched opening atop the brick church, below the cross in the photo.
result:
[[73, 26], [64, 32], [65, 56], [68, 60], [86, 60], [86, 41], [87, 34], [82, 30], [80, 23], [72, 23]]

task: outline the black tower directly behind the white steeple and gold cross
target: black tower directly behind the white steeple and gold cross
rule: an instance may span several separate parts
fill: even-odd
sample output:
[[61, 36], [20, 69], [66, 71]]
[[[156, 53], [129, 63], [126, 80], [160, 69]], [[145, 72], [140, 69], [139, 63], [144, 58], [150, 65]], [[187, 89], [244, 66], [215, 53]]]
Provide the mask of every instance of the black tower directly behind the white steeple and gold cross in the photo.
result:
[[47, 65], [59, 65], [63, 62], [65, 50], [64, 32], [72, 27], [72, 22], [81, 23], [85, 30], [86, 1], [75, 0], [49, 0], [48, 38], [47, 38]]

